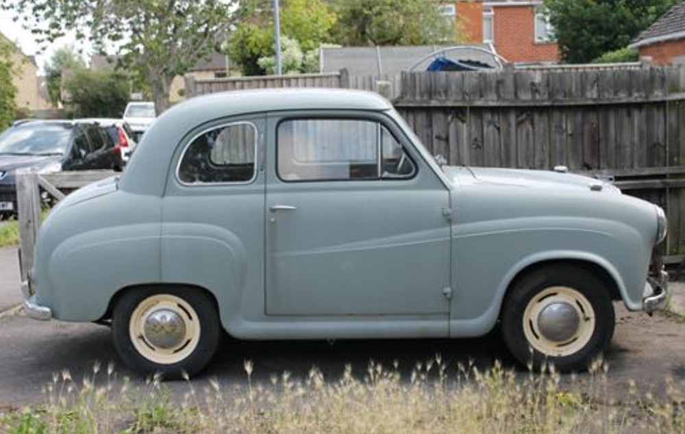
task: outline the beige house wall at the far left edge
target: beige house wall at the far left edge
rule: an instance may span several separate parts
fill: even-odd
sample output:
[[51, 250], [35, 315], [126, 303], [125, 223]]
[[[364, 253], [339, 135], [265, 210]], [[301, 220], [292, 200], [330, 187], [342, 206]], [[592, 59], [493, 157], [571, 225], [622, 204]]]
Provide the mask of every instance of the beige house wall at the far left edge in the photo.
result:
[[22, 53], [14, 42], [0, 33], [0, 43], [10, 45], [10, 58], [14, 65], [14, 103], [18, 109], [42, 110], [49, 108], [49, 103], [40, 92], [42, 80], [38, 77], [38, 65], [33, 56]]

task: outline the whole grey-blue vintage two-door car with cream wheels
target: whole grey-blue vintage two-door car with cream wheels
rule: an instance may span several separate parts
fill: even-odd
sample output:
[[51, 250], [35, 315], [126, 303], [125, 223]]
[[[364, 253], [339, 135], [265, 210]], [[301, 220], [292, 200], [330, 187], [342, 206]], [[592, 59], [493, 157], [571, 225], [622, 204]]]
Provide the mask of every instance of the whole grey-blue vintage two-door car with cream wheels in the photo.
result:
[[[126, 210], [126, 212], [122, 212]], [[198, 97], [158, 118], [121, 175], [45, 221], [33, 318], [105, 322], [144, 372], [201, 370], [247, 340], [481, 336], [586, 368], [612, 301], [652, 311], [660, 207], [558, 171], [440, 166], [368, 92]]]

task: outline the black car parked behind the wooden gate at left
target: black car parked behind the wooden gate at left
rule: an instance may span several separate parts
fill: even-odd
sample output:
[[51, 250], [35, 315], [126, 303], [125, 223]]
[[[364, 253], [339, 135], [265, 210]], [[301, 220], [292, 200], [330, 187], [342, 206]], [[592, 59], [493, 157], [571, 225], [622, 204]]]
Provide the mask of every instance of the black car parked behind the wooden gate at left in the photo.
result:
[[0, 134], [0, 216], [16, 214], [16, 170], [119, 169], [124, 166], [105, 128], [73, 120], [18, 120]]

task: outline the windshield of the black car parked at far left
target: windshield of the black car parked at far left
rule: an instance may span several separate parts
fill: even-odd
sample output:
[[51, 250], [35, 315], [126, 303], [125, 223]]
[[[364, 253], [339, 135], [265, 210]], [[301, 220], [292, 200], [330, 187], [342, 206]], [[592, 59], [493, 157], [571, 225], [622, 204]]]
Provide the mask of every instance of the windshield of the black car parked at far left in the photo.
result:
[[0, 154], [64, 155], [69, 146], [71, 125], [29, 123], [0, 134]]

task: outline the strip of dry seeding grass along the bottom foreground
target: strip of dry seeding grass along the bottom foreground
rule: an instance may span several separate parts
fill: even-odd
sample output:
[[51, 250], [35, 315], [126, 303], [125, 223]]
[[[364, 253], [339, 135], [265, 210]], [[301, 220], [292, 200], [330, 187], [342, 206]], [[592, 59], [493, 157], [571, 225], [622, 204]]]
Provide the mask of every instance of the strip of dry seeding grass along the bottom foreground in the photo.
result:
[[641, 396], [631, 383], [621, 403], [614, 403], [599, 364], [582, 391], [573, 377], [563, 387], [566, 381], [553, 370], [448, 369], [440, 357], [417, 365], [410, 378], [402, 378], [397, 366], [371, 363], [361, 379], [348, 366], [334, 379], [314, 368], [304, 379], [284, 372], [271, 383], [255, 384], [252, 370], [246, 362], [242, 392], [231, 387], [227, 393], [217, 380], [197, 392], [188, 381], [188, 392], [177, 400], [158, 377], [138, 388], [125, 380], [114, 390], [111, 366], [105, 379], [96, 365], [80, 383], [65, 371], [47, 387], [47, 404], [4, 413], [0, 408], [0, 432], [685, 433], [685, 401], [673, 381], [665, 381], [661, 400]]

